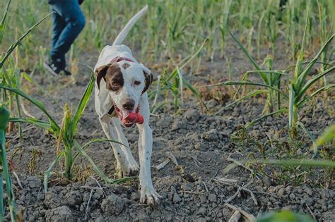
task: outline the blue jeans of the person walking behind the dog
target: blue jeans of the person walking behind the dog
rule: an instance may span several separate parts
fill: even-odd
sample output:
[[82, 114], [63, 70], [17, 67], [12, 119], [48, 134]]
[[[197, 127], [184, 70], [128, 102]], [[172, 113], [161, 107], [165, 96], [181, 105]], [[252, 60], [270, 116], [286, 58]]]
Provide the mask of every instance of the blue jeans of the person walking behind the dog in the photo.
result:
[[53, 33], [51, 59], [56, 66], [64, 69], [65, 54], [69, 51], [81, 30], [85, 26], [85, 16], [78, 4], [78, 0], [48, 0], [52, 14]]

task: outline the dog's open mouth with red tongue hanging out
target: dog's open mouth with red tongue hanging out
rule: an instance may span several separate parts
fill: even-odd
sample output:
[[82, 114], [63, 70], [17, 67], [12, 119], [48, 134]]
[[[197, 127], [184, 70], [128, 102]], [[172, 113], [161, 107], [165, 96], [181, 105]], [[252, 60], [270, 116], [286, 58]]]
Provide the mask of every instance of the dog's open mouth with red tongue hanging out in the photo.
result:
[[119, 116], [119, 120], [125, 127], [131, 127], [131, 125], [134, 125], [134, 123], [142, 124], [144, 122], [143, 116], [139, 114], [139, 106], [137, 106], [135, 112], [123, 109], [120, 110], [115, 103], [114, 108], [117, 112], [117, 116]]

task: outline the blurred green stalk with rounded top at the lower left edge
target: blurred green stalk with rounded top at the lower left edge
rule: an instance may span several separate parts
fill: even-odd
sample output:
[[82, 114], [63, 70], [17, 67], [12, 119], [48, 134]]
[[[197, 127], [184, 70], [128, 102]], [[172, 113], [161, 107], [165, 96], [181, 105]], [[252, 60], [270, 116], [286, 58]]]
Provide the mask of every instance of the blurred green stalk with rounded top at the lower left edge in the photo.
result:
[[9, 112], [4, 109], [4, 107], [0, 107], [0, 145], [1, 145], [1, 159], [0, 159], [0, 220], [1, 218], [4, 218], [4, 190], [2, 190], [3, 184], [3, 178], [6, 181], [6, 191], [7, 191], [7, 197], [8, 197], [8, 205], [9, 205], [9, 211], [11, 214], [11, 221], [16, 221], [16, 209], [15, 209], [15, 199], [13, 194], [13, 185], [11, 183], [11, 174], [9, 173], [8, 163], [7, 163], [7, 156], [6, 156], [6, 139], [5, 139], [5, 132], [7, 128], [9, 118]]

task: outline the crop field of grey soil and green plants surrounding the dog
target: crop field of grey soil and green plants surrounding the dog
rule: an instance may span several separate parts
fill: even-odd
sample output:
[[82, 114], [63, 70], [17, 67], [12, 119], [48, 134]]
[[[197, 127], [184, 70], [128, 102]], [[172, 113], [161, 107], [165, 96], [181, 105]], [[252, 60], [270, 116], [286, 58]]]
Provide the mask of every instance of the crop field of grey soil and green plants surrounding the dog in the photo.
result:
[[[0, 218], [335, 221], [335, 3], [280, 3], [86, 0], [74, 75], [54, 77], [47, 1], [12, 0], [0, 23]], [[154, 74], [158, 206], [139, 203], [137, 176], [117, 177], [91, 93], [100, 50], [145, 4], [124, 44]], [[124, 132], [139, 161], [137, 128]]]

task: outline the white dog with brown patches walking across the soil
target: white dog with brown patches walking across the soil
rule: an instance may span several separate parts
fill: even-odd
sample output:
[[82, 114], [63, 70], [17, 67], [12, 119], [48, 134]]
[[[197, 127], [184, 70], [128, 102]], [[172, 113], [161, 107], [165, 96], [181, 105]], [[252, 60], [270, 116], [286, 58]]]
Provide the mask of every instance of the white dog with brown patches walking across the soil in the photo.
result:
[[[117, 159], [119, 176], [134, 175], [139, 171], [141, 203], [158, 204], [160, 195], [155, 192], [151, 180], [151, 152], [153, 134], [149, 126], [149, 104], [146, 90], [153, 75], [148, 68], [136, 61], [130, 49], [122, 44], [131, 27], [148, 10], [141, 9], [129, 20], [112, 46], [102, 49], [95, 65], [95, 110], [105, 134], [125, 144], [111, 143]], [[139, 164], [129, 150], [129, 144], [122, 132], [121, 124], [130, 127], [136, 123], [139, 128]]]

